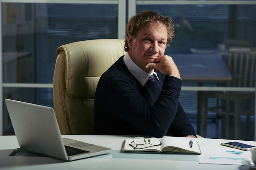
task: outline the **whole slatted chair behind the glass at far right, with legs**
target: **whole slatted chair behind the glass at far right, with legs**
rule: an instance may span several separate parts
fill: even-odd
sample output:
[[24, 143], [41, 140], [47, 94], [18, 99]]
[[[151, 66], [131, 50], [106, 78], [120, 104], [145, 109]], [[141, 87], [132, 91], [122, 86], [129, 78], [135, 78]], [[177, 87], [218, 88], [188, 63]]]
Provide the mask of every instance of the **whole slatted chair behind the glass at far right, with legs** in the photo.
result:
[[[255, 87], [255, 48], [229, 48], [227, 53], [227, 67], [232, 75], [232, 82], [228, 87]], [[221, 99], [221, 105], [208, 107], [208, 99]], [[230, 115], [234, 117], [235, 139], [240, 138], [240, 116], [247, 115], [249, 126], [249, 115], [254, 109], [249, 107], [250, 100], [255, 99], [255, 92], [203, 92], [202, 93], [202, 135], [206, 136], [207, 112], [226, 114], [226, 131], [229, 131]], [[241, 102], [245, 100], [247, 105], [241, 110]], [[233, 105], [232, 105], [233, 102]], [[226, 103], [226, 105], [225, 105]], [[223, 105], [224, 104], [224, 105]], [[231, 111], [231, 105], [233, 110]], [[222, 124], [224, 125], [224, 124]], [[226, 133], [227, 135], [227, 133]]]

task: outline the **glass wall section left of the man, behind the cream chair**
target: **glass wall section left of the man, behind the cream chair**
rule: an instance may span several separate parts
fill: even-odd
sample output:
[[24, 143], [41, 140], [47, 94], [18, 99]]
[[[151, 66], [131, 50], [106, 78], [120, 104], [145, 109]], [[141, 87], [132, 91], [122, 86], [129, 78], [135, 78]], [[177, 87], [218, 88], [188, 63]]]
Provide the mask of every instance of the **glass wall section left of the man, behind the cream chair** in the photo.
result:
[[75, 41], [118, 38], [119, 32], [117, 0], [104, 4], [18, 2], [1, 4], [4, 135], [13, 134], [4, 98], [54, 107], [49, 87], [56, 48]]

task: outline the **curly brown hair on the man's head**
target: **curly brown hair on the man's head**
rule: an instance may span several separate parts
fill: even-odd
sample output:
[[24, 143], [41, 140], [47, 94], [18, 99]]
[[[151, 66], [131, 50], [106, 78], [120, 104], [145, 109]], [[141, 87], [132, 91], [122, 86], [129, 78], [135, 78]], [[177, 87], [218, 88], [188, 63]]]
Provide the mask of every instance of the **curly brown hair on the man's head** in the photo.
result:
[[163, 17], [153, 11], [142, 11], [141, 13], [130, 18], [126, 26], [126, 39], [124, 40], [124, 50], [129, 51], [127, 36], [130, 34], [132, 37], [136, 37], [141, 28], [145, 28], [150, 22], [161, 22], [167, 28], [167, 46], [171, 43], [174, 37], [174, 24], [171, 17]]

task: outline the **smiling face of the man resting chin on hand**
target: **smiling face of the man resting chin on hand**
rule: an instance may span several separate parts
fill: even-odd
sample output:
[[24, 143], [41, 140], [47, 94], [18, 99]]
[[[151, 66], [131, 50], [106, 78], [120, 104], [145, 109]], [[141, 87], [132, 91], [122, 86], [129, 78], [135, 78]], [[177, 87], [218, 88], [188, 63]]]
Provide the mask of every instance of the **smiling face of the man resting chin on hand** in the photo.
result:
[[167, 42], [166, 26], [160, 22], [150, 22], [148, 26], [142, 28], [136, 37], [128, 35], [128, 54], [134, 63], [146, 72], [148, 63], [154, 63], [157, 57], [163, 56]]

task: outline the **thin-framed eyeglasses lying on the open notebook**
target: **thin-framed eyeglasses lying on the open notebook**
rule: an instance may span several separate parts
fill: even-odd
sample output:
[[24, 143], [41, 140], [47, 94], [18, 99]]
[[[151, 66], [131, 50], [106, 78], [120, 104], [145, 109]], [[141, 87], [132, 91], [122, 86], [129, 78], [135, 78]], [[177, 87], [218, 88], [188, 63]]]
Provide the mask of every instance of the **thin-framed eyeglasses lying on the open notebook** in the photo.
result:
[[[132, 144], [129, 144], [133, 149], [144, 149], [149, 148], [152, 146], [159, 146], [161, 145], [161, 141], [156, 137], [151, 137], [148, 139], [148, 142], [146, 142], [146, 139], [144, 137], [136, 136], [134, 137]], [[134, 146], [136, 145], [136, 146]], [[141, 146], [143, 145], [143, 146]]]

